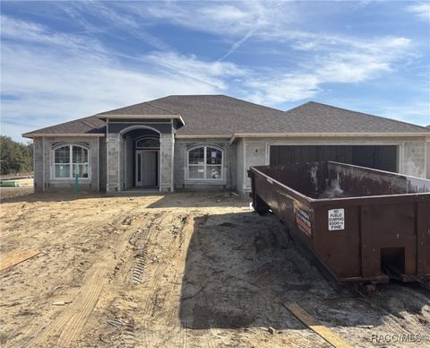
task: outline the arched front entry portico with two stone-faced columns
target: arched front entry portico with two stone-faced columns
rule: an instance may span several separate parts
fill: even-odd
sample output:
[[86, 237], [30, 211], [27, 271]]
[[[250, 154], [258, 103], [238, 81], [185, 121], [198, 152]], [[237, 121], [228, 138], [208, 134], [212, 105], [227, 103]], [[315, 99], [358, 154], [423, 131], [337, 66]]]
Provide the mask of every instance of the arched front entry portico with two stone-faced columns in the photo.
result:
[[107, 192], [147, 187], [173, 192], [176, 123], [153, 117], [107, 118]]

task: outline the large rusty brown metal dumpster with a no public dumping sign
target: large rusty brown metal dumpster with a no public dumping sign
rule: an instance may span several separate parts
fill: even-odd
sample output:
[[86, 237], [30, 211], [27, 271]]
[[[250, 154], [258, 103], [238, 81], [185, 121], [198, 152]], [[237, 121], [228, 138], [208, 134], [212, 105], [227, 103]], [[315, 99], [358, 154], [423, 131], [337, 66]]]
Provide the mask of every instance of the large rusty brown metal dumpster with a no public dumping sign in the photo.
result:
[[341, 283], [430, 279], [430, 180], [332, 161], [248, 173], [254, 209], [271, 209]]

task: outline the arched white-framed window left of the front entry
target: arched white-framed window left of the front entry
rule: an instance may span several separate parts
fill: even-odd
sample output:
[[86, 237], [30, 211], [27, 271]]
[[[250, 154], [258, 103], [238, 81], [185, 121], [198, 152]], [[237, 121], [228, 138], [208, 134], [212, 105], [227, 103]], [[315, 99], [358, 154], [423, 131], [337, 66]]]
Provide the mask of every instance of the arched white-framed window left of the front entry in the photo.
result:
[[82, 145], [62, 145], [54, 148], [54, 178], [89, 178], [88, 148]]

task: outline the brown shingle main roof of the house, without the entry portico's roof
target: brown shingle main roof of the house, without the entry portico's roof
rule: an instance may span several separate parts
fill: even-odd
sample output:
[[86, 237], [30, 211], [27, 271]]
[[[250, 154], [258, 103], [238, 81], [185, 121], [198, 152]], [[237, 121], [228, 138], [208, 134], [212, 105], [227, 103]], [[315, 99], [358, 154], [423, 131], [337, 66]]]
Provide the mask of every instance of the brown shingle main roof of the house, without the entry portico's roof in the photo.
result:
[[[388, 135], [426, 132], [430, 135], [430, 131], [424, 126], [340, 109], [314, 101], [284, 112], [224, 95], [173, 95], [106, 111], [99, 115], [180, 115], [185, 120], [185, 126], [177, 130], [177, 135], [229, 137], [233, 134], [378, 133]], [[105, 122], [95, 116], [39, 129], [26, 135], [105, 132]]]

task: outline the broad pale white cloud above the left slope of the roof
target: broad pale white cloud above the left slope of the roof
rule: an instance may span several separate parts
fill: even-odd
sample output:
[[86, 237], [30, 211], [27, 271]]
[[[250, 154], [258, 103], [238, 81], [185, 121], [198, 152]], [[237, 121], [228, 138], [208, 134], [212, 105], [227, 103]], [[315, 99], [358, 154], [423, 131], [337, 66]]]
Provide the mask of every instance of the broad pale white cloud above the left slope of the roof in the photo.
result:
[[3, 100], [2, 123], [27, 124], [27, 129], [16, 127], [20, 132], [169, 94], [211, 94], [224, 88], [222, 83], [184, 74], [133, 70], [108, 60], [102, 63], [88, 55], [40, 54], [6, 45], [2, 57], [2, 92], [19, 98]]

